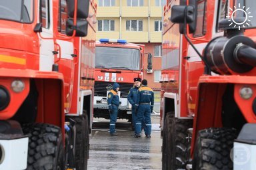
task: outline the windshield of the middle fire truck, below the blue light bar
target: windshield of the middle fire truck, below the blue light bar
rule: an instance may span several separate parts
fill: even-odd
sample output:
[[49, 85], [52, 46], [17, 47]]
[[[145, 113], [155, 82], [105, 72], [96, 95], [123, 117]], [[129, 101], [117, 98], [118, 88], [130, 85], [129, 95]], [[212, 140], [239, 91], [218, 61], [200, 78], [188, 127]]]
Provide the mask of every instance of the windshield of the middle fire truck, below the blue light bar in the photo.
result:
[[96, 68], [139, 70], [139, 50], [134, 48], [96, 47]]

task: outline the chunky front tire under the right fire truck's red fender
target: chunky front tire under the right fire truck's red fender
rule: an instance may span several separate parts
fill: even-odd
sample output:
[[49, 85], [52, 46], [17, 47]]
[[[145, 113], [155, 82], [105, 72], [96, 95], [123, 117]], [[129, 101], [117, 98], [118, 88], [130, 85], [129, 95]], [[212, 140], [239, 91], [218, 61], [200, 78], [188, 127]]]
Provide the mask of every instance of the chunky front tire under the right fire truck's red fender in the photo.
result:
[[199, 131], [195, 143], [193, 169], [233, 169], [230, 153], [236, 137], [236, 130], [231, 128]]

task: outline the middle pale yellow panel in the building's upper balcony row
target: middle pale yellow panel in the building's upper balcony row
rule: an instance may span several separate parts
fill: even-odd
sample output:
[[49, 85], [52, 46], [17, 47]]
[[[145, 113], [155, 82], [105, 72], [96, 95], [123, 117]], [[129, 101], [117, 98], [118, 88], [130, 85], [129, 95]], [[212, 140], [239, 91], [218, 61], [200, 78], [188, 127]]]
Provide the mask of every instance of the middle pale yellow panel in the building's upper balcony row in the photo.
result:
[[148, 7], [122, 7], [122, 17], [149, 17]]

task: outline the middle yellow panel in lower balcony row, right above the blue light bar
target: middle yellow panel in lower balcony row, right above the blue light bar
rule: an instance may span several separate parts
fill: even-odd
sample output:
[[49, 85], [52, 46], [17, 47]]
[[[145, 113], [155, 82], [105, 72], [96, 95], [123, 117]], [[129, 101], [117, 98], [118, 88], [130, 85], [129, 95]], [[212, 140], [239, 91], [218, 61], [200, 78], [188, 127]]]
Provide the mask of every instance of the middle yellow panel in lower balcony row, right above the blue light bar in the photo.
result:
[[123, 31], [121, 39], [125, 39], [128, 42], [149, 42], [148, 32], [146, 31]]

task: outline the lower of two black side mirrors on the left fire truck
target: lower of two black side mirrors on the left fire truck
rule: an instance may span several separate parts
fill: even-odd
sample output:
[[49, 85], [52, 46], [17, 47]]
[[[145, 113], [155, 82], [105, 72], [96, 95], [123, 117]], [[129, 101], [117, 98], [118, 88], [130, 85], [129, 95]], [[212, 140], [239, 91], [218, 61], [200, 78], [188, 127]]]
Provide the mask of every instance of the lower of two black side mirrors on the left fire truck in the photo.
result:
[[86, 20], [77, 19], [77, 27], [74, 28], [74, 20], [68, 19], [66, 23], [66, 35], [72, 36], [75, 30], [75, 37], [87, 36], [88, 22]]

